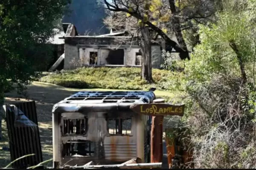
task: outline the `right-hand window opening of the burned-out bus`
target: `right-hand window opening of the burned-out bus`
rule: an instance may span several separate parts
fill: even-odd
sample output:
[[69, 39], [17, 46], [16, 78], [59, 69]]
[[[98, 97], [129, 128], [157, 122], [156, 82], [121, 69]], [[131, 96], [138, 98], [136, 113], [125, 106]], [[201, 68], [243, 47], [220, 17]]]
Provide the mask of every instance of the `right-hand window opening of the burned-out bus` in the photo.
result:
[[110, 135], [131, 134], [131, 118], [108, 119], [108, 133]]

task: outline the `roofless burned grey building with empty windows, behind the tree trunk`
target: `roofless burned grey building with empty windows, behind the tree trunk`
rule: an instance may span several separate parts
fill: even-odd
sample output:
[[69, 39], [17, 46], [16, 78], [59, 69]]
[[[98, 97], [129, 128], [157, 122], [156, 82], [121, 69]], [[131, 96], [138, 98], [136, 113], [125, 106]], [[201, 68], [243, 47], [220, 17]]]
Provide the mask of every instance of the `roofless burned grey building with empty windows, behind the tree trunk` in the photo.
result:
[[[71, 23], [64, 23], [63, 28], [65, 36], [61, 38], [65, 41], [64, 54], [55, 65], [64, 61], [65, 70], [95, 65], [141, 66], [141, 47], [136, 38], [127, 36], [125, 31], [111, 30], [110, 34], [83, 36]], [[160, 68], [160, 45], [151, 45], [151, 56], [152, 68]]]

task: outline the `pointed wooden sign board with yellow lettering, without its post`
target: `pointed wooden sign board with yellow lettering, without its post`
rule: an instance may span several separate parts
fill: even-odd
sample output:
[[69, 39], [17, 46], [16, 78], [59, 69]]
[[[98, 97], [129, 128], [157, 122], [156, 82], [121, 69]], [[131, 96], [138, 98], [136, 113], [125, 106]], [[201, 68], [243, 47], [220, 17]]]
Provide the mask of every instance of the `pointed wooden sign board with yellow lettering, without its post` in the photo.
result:
[[134, 104], [130, 109], [139, 114], [148, 116], [177, 115], [183, 116], [185, 105], [171, 105], [166, 103]]

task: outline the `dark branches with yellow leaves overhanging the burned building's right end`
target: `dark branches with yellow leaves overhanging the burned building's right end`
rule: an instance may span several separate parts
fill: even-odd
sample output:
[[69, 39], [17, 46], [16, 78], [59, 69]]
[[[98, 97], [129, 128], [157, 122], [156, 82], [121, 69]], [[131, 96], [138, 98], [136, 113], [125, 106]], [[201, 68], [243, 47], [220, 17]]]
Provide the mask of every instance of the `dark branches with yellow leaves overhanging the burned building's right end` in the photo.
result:
[[[211, 0], [103, 0], [108, 11], [112, 11], [111, 23], [132, 25], [131, 18], [137, 19], [137, 26], [145, 25], [166, 41], [166, 46], [180, 52], [181, 59], [189, 59], [188, 48], [183, 32], [195, 29], [198, 23], [214, 19], [216, 11]], [[115, 14], [118, 13], [118, 16]], [[131, 22], [132, 21], [132, 22]], [[126, 23], [125, 23], [126, 22]], [[175, 35], [177, 42], [172, 40]], [[199, 40], [196, 40], [197, 42]]]

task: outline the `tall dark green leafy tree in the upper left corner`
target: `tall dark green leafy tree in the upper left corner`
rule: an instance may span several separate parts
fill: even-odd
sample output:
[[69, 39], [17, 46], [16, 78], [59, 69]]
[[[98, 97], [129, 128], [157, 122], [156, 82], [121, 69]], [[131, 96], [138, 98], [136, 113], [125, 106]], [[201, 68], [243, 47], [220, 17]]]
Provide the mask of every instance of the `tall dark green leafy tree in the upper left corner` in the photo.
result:
[[68, 3], [70, 0], [0, 1], [0, 106], [13, 83], [22, 90], [39, 76], [32, 67], [37, 57], [33, 51], [53, 36], [54, 23]]

